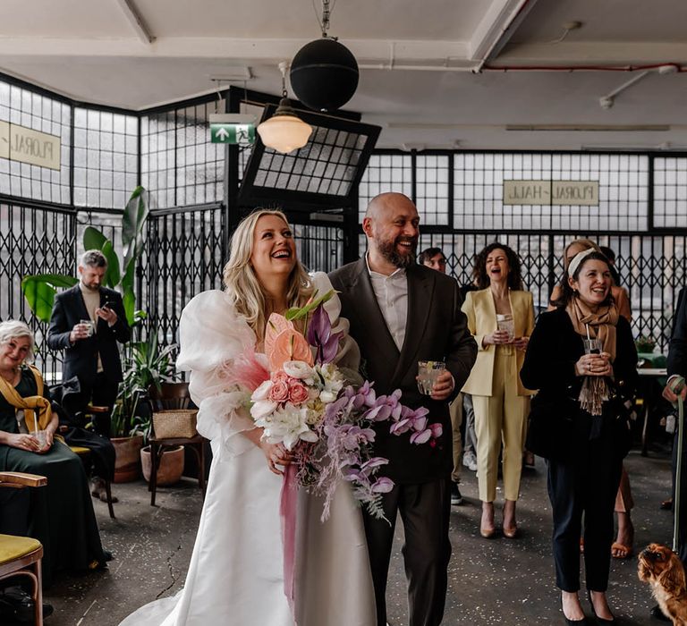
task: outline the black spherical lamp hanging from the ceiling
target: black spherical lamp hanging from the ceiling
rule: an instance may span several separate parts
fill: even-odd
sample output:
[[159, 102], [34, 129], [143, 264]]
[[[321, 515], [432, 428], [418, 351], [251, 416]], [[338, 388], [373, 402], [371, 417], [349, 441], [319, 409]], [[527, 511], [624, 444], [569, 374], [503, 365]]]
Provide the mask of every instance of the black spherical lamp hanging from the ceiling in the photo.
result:
[[293, 57], [291, 88], [315, 111], [344, 106], [358, 88], [358, 63], [352, 52], [333, 38], [310, 41]]

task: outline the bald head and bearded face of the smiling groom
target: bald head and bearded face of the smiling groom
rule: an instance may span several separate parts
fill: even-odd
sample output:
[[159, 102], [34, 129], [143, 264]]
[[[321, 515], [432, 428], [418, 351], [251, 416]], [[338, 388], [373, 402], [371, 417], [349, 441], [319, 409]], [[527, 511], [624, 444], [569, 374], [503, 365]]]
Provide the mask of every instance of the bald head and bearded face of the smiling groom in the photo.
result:
[[370, 200], [362, 220], [370, 269], [390, 275], [399, 267], [414, 264], [420, 237], [418, 224], [418, 209], [403, 193], [380, 193]]

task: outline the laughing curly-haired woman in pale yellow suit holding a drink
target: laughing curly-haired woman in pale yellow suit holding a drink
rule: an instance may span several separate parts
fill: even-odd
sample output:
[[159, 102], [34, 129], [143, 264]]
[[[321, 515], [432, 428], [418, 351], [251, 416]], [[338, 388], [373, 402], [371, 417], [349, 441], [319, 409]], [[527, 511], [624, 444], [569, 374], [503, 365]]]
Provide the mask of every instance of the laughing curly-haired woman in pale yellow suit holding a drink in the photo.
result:
[[477, 476], [482, 537], [496, 535], [494, 501], [498, 455], [503, 443], [504, 536], [518, 526], [515, 502], [520, 491], [522, 449], [530, 412], [529, 389], [520, 368], [534, 328], [532, 294], [522, 290], [520, 260], [508, 246], [490, 243], [479, 253], [473, 270], [478, 292], [468, 292], [462, 310], [478, 345], [477, 362], [462, 388], [471, 393], [477, 431]]

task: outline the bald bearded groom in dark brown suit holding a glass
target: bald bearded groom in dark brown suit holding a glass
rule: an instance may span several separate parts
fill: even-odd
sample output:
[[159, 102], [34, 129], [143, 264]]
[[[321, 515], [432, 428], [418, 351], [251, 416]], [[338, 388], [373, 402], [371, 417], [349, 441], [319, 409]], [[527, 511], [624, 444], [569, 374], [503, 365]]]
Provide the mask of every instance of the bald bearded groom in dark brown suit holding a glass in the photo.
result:
[[[451, 511], [451, 419], [448, 402], [461, 390], [475, 361], [477, 345], [461, 311], [457, 283], [415, 263], [420, 216], [411, 199], [383, 193], [372, 199], [362, 229], [364, 258], [329, 277], [340, 292], [343, 317], [360, 345], [361, 368], [377, 395], [400, 388], [403, 404], [429, 410], [429, 423], [444, 428], [437, 445], [411, 444], [377, 428], [374, 454], [390, 462], [381, 475], [394, 480], [383, 500], [386, 519], [363, 512], [377, 601], [377, 626], [386, 624], [386, 579], [401, 513], [411, 626], [437, 626], [444, 614]], [[419, 360], [444, 360], [431, 396], [418, 391]]]

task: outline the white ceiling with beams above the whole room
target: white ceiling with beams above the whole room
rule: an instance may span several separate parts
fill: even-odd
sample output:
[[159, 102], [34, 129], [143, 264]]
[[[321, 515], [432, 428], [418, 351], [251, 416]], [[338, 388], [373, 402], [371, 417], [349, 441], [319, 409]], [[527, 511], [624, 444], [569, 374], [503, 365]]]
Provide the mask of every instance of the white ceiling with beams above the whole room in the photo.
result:
[[[320, 36], [321, 9], [2, 0], [0, 72], [131, 109], [208, 93], [212, 75], [276, 95], [277, 63]], [[565, 34], [570, 21], [582, 26]], [[346, 108], [383, 127], [378, 147], [687, 149], [686, 26], [684, 0], [335, 0], [329, 34], [358, 59]], [[633, 79], [611, 108], [599, 105]]]

